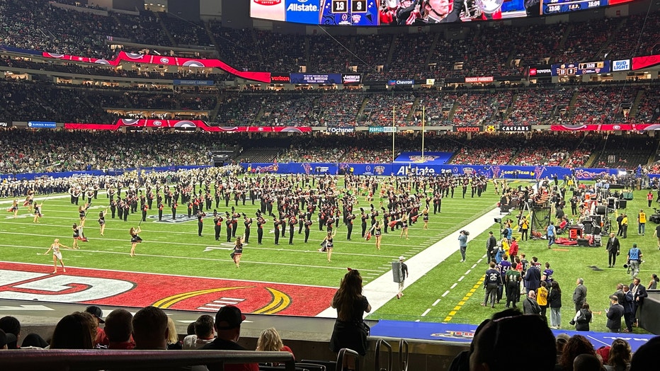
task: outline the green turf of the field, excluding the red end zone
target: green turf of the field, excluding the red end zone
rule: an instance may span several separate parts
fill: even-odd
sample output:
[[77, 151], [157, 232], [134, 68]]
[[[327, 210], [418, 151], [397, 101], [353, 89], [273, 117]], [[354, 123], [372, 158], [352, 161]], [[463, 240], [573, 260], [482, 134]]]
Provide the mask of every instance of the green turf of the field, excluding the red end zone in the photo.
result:
[[[520, 243], [520, 251], [526, 253], [528, 259], [531, 256], [537, 256], [541, 263], [550, 261], [554, 269], [554, 278], [562, 286], [562, 325], [564, 328], [571, 327], [568, 324], [574, 307], [571, 296], [576, 278], [581, 277], [584, 278], [585, 285], [588, 287], [588, 302], [596, 312], [591, 329], [606, 331], [604, 309], [608, 307], [608, 295], [615, 291], [615, 285], [618, 282], [630, 283], [630, 275], [627, 275], [621, 266], [625, 260], [625, 251], [633, 242], [639, 244], [646, 261], [641, 268], [642, 283], [647, 285], [651, 273], [660, 271], [658, 261], [660, 252], [655, 247], [656, 240], [653, 237], [656, 224], [648, 222], [646, 236], [637, 236], [636, 219], [639, 208], [643, 207], [647, 215], [652, 214], [652, 210], [646, 207], [644, 197], [646, 193], [645, 190], [636, 191], [635, 200], [628, 202], [629, 238], [622, 240], [622, 256], [619, 258], [617, 268], [606, 268], [608, 256], [604, 247], [594, 249], [571, 246], [548, 250], [546, 241]], [[105, 194], [100, 194], [98, 200], [93, 202], [85, 229], [85, 234], [90, 241], [81, 242], [79, 251], [63, 250], [62, 253], [65, 265], [72, 267], [331, 287], [338, 285], [339, 280], [346, 273], [346, 267], [352, 267], [360, 269], [365, 284], [367, 284], [370, 280], [387, 273], [390, 268], [389, 263], [398, 256], [414, 256], [421, 249], [461, 229], [487, 210], [491, 210], [499, 200], [498, 196], [494, 195], [492, 186], [482, 198], [470, 198], [469, 195], [468, 193], [466, 199], [460, 198], [459, 193], [456, 194], [457, 198], [445, 198], [442, 213], [431, 214], [429, 229], [423, 230], [423, 223], [420, 221], [409, 229], [410, 239], [408, 241], [399, 239], [398, 234], [385, 234], [380, 251], [375, 249], [373, 241], [360, 239], [359, 223], [355, 224], [353, 229], [353, 241], [346, 241], [346, 227], [341, 226], [335, 238], [332, 263], [326, 261], [325, 253], [317, 251], [319, 242], [322, 241], [325, 233], [319, 232], [316, 222], [312, 225], [309, 243], [303, 243], [303, 235], [297, 234], [296, 228], [292, 246], [288, 244], [288, 236], [280, 238], [280, 245], [275, 246], [273, 234], [268, 232], [264, 233], [263, 245], [258, 246], [255, 226], [250, 237], [251, 244], [246, 246], [241, 267], [237, 269], [229, 258], [229, 249], [205, 251], [207, 246], [219, 247], [214, 239], [212, 218], [210, 217], [205, 219], [207, 223], [204, 227], [203, 237], [197, 235], [196, 220], [165, 224], [151, 222], [147, 219], [147, 222], [143, 222], [141, 225], [140, 236], [144, 242], [137, 246], [138, 256], [130, 258], [128, 255], [130, 251], [128, 229], [137, 226], [140, 216], [132, 214], [128, 217], [128, 222], [123, 222], [111, 219], [108, 212], [106, 236], [101, 237], [98, 232], [96, 215], [108, 200]], [[360, 201], [365, 203], [363, 200]], [[230, 202], [231, 205], [233, 202]], [[3, 207], [6, 208], [8, 205], [3, 205]], [[245, 206], [239, 203], [237, 211], [254, 215], [257, 207], [257, 205], [251, 205], [251, 202], [247, 202]], [[224, 212], [227, 209], [224, 207], [224, 203], [221, 203], [218, 211]], [[181, 214], [182, 211], [184, 211], [183, 207], [180, 207], [178, 214]], [[27, 213], [25, 207], [21, 207], [17, 219], [11, 219], [9, 213], [2, 216], [0, 219], [0, 253], [4, 260], [52, 264], [52, 256], [38, 256], [37, 253], [44, 253], [55, 238], [59, 238], [62, 243], [71, 246], [71, 225], [78, 221], [77, 207], [71, 205], [69, 198], [49, 198], [45, 202], [43, 212], [45, 217], [41, 219], [40, 224], [33, 224], [32, 217], [23, 217]], [[169, 210], [166, 209], [164, 212], [168, 213]], [[149, 215], [156, 213], [156, 210], [149, 210]], [[612, 217], [612, 219], [614, 218]], [[613, 223], [615, 224], [614, 220]], [[268, 230], [272, 228], [270, 220], [266, 226]], [[240, 222], [237, 235], [241, 234], [243, 229], [242, 222]], [[493, 225], [490, 230], [496, 232], [497, 229], [499, 229], [499, 225]], [[484, 261], [470, 270], [472, 265], [482, 258], [486, 239], [486, 232], [473, 233], [470, 236], [465, 263], [460, 262], [459, 253], [454, 253], [421, 280], [406, 287], [402, 299], [394, 297], [383, 307], [370, 314], [369, 318], [478, 324], [482, 319], [490, 316], [494, 310], [502, 309], [503, 302], [496, 305], [496, 309], [480, 306], [484, 295], [482, 285], [474, 290], [472, 296], [467, 296], [467, 300], [463, 300], [486, 270]], [[221, 242], [224, 240], [223, 225]], [[448, 243], [457, 246], [456, 241]], [[603, 270], [592, 270], [588, 268], [589, 266], [598, 266]], [[409, 269], [415, 270], [416, 267], [409, 265]], [[470, 273], [465, 274], [467, 270], [470, 270]], [[464, 278], [459, 282], [458, 279], [461, 276]], [[455, 283], [456, 286], [453, 289], [450, 288]], [[392, 285], [395, 284], [392, 283]], [[448, 290], [448, 294], [443, 297], [442, 295]], [[598, 314], [598, 312], [602, 313]]]

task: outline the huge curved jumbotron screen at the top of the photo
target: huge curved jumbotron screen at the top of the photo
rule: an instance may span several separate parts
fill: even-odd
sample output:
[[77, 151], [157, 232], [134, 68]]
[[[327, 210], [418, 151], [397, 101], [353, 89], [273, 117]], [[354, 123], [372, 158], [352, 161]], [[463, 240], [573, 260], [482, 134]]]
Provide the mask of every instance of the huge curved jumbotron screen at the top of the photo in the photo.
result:
[[250, 0], [250, 16], [308, 25], [428, 25], [545, 16], [633, 0]]

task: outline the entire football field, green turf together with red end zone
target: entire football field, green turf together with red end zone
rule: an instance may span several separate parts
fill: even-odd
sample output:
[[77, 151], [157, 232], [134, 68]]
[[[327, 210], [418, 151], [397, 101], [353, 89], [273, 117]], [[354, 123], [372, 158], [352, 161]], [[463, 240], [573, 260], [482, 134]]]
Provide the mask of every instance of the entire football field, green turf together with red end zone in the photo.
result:
[[[518, 184], [513, 183], [513, 186]], [[526, 253], [528, 260], [537, 256], [540, 263], [548, 261], [554, 269], [554, 279], [562, 287], [563, 328], [571, 328], [568, 321], [574, 314], [572, 292], [576, 278], [584, 278], [588, 287], [587, 300], [595, 312], [591, 330], [607, 331], [605, 309], [609, 305], [608, 295], [615, 291], [618, 282], [626, 285], [630, 283], [630, 275], [622, 268], [622, 264], [625, 263], [625, 252], [633, 242], [637, 242], [644, 253], [645, 262], [640, 273], [642, 284], [647, 285], [651, 273], [660, 271], [660, 251], [656, 248], [656, 239], [653, 236], [656, 224], [647, 223], [646, 235], [637, 235], [637, 212], [642, 207], [647, 215], [651, 215], [653, 211], [646, 207], [646, 193], [645, 190], [635, 191], [635, 200], [628, 202], [627, 210], [618, 210], [629, 213], [630, 227], [628, 239], [621, 240], [622, 256], [617, 268], [607, 268], [608, 257], [604, 247], [555, 245], [554, 249], [549, 250], [545, 240], [520, 241], [520, 252]], [[360, 205], [356, 205], [354, 210], [368, 207], [370, 202], [365, 202], [363, 198], [359, 200]], [[442, 244], [445, 247], [450, 246], [455, 252], [435, 268], [425, 272], [416, 282], [407, 285], [402, 299], [392, 296], [369, 314], [368, 318], [478, 324], [494, 311], [504, 307], [505, 300], [496, 304], [496, 309], [480, 305], [484, 299], [482, 281], [487, 265], [483, 258], [487, 231], [491, 230], [497, 235], [499, 224], [491, 224], [490, 228], [484, 230], [470, 231], [465, 262], [460, 262], [457, 241], [443, 238], [464, 229], [474, 219], [493, 210], [498, 201], [499, 196], [494, 194], [492, 184], [480, 198], [476, 195], [471, 198], [468, 192], [464, 199], [460, 197], [460, 193], [456, 193], [454, 198], [443, 199], [439, 214], [433, 215], [431, 210], [428, 229], [423, 229], [420, 219], [409, 228], [407, 240], [405, 237], [399, 238], [397, 230], [384, 234], [380, 251], [375, 249], [373, 239], [365, 241], [360, 238], [359, 222], [353, 227], [351, 241], [346, 241], [346, 226], [340, 223], [334, 239], [335, 248], [331, 263], [327, 261], [325, 253], [318, 251], [325, 232], [319, 231], [316, 220], [307, 244], [303, 241], [304, 235], [298, 234], [296, 227], [292, 245], [288, 244], [287, 231], [287, 235], [280, 237], [280, 244], [276, 246], [272, 219], [267, 217], [263, 244], [256, 244], [255, 223], [249, 244], [244, 247], [241, 266], [236, 268], [229, 257], [233, 243], [225, 242], [224, 225], [220, 241], [215, 241], [211, 212], [208, 212], [205, 218], [203, 236], [198, 236], [198, 223], [194, 215], [191, 219], [177, 218], [178, 222], [171, 222], [168, 207], [164, 210], [164, 219], [170, 221], [158, 222], [157, 210], [149, 210], [147, 220], [141, 224], [140, 212], [129, 215], [127, 222], [124, 222], [117, 218], [112, 219], [108, 211], [105, 236], [101, 236], [96, 220], [98, 212], [106, 210], [108, 198], [105, 193], [100, 192], [98, 199], [93, 200], [86, 220], [84, 233], [89, 241], [79, 242], [78, 250], [62, 249], [67, 273], [62, 273], [59, 265], [57, 273], [57, 276], [84, 276], [96, 281], [89, 283], [80, 278], [81, 282], [73, 279], [68, 282], [59, 278], [57, 285], [61, 287], [55, 283], [30, 287], [30, 280], [37, 278], [30, 278], [33, 276], [27, 273], [24, 279], [8, 279], [8, 275], [16, 276], [17, 271], [25, 271], [30, 274], [41, 273], [39, 280], [42, 282], [45, 282], [46, 277], [52, 280], [52, 254], [45, 256], [43, 253], [56, 238], [65, 246], [72, 246], [72, 224], [79, 220], [77, 206], [71, 204], [68, 195], [53, 195], [44, 201], [44, 216], [37, 224], [33, 223], [33, 215], [28, 213], [26, 207], [20, 207], [16, 218], [9, 212], [4, 212], [1, 216], [0, 260], [4, 263], [0, 266], [0, 273], [4, 271], [6, 274], [0, 274], [0, 278], [4, 277], [0, 297], [17, 298], [18, 292], [21, 294], [18, 297], [23, 299], [30, 295], [40, 295], [40, 300], [50, 297], [52, 301], [60, 301], [62, 299], [58, 299], [58, 295], [62, 292], [84, 292], [87, 290], [85, 287], [89, 289], [94, 285], [93, 282], [106, 280], [103, 285], [106, 285], [105, 290], [110, 293], [112, 290], [119, 292], [122, 285], [132, 286], [120, 292], [123, 296], [115, 295], [114, 298], [110, 294], [93, 298], [82, 295], [79, 299], [65, 300], [128, 306], [154, 304], [161, 307], [169, 303], [171, 309], [209, 312], [223, 302], [234, 300], [242, 303], [246, 312], [314, 316], [329, 307], [331, 295], [334, 294], [347, 267], [360, 270], [367, 288], [370, 287], [370, 282], [384, 275], [395, 288], [390, 271], [392, 261], [396, 261], [399, 256], [413, 258], [429, 246]], [[0, 202], [3, 210], [11, 205], [11, 200]], [[19, 203], [22, 205], [22, 200]], [[377, 208], [380, 208], [379, 203], [377, 198], [373, 202]], [[229, 207], [225, 207], [223, 201], [217, 211], [224, 214], [234, 206], [237, 212], [245, 212], [246, 215], [254, 217], [258, 202], [255, 204], [252, 205], [248, 200], [246, 205], [239, 202], [236, 206], [232, 200]], [[213, 206], [215, 208], [215, 201]], [[275, 207], [273, 209], [275, 210]], [[179, 207], [177, 215], [182, 212], [187, 216], [187, 210]], [[506, 218], [508, 215], [502, 217]], [[610, 215], [614, 225], [615, 217]], [[512, 219], [515, 219], [515, 216]], [[137, 256], [131, 258], [129, 229], [139, 224], [143, 241], [137, 245]], [[243, 231], [242, 221], [239, 220], [237, 236]], [[409, 263], [409, 270], [412, 273], [416, 267]], [[249, 302], [257, 303], [251, 305]], [[207, 305], [209, 303], [211, 304]]]

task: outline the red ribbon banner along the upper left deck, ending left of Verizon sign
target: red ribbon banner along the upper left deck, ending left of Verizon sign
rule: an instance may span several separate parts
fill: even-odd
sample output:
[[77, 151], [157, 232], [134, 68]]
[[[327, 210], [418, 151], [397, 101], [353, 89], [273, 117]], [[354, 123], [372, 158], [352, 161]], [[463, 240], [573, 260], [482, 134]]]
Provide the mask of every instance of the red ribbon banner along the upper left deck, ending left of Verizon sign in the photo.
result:
[[147, 64], [163, 64], [165, 66], [181, 66], [181, 67], [216, 67], [222, 69], [229, 74], [239, 76], [243, 79], [271, 82], [271, 74], [269, 72], [250, 72], [239, 71], [229, 64], [222, 62], [219, 59], [192, 59], [183, 57], [167, 57], [165, 55], [144, 55], [139, 53], [119, 52], [115, 59], [97, 59], [89, 57], [76, 57], [74, 55], [64, 55], [57, 53], [42, 52], [42, 57], [64, 59], [74, 62], [85, 62], [95, 64], [108, 64], [110, 66], [117, 66], [120, 62], [134, 62], [134, 63], [147, 63]]

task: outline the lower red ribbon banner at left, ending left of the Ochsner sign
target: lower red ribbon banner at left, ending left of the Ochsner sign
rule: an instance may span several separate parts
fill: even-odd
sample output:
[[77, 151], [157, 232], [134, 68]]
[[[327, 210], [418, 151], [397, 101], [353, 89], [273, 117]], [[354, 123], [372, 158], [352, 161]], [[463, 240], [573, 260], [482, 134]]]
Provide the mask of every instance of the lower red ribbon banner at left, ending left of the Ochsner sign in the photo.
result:
[[173, 127], [175, 129], [200, 128], [205, 132], [312, 132], [311, 127], [210, 126], [202, 120], [133, 120], [121, 118], [114, 124], [64, 124], [64, 129], [67, 130], [119, 130], [121, 127]]

